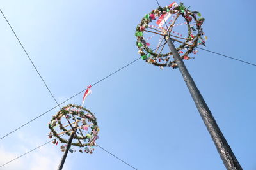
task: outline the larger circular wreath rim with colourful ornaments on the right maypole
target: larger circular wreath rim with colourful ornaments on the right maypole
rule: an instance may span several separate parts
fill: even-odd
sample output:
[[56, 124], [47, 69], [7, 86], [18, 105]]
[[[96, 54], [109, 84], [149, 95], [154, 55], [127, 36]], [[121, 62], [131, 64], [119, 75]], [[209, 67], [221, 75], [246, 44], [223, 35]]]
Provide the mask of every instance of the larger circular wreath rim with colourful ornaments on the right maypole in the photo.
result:
[[[202, 38], [202, 35], [204, 35], [204, 32], [202, 31], [202, 24], [204, 22], [204, 18], [196, 18], [196, 16], [201, 16], [201, 14], [198, 11], [190, 11], [188, 8], [184, 6], [183, 3], [180, 3], [179, 5], [173, 6], [172, 4], [170, 6], [166, 6], [164, 8], [159, 7], [156, 10], [152, 10], [150, 13], [146, 14], [145, 17], [142, 18], [140, 24], [136, 27], [136, 32], [135, 36], [137, 37], [136, 41], [136, 46], [138, 47], [139, 51], [138, 53], [141, 55], [141, 58], [145, 60], [146, 62], [153, 64], [155, 66], [159, 67], [165, 67], [165, 66], [170, 66], [168, 64], [170, 60], [170, 56], [172, 55], [172, 52], [168, 53], [156, 53], [154, 50], [148, 47], [150, 45], [147, 40], [145, 40], [143, 34], [145, 32], [152, 32], [148, 31], [147, 28], [154, 29], [158, 32], [161, 32], [161, 29], [164, 29], [165, 25], [163, 27], [154, 27], [149, 25], [153, 20], [156, 20], [156, 18], [164, 17], [164, 15], [170, 15], [170, 14], [175, 14], [178, 17], [183, 17], [185, 20], [184, 25], [188, 26], [188, 36], [185, 39], [184, 42], [178, 41], [177, 42], [181, 43], [179, 47], [177, 47], [177, 51], [182, 54], [180, 57], [182, 59], [191, 59], [193, 57], [188, 57], [190, 53], [196, 53], [194, 50], [197, 45], [204, 45], [205, 46], [205, 41], [207, 39], [207, 36], [204, 36], [204, 39]], [[175, 21], [173, 21], [173, 25], [175, 25]], [[166, 22], [164, 20], [164, 22]], [[194, 24], [191, 24], [194, 23]], [[166, 24], [166, 23], [165, 23]], [[178, 25], [178, 24], [177, 24]], [[182, 23], [183, 25], [183, 23]], [[167, 26], [167, 25], [166, 25]], [[152, 28], [154, 27], [154, 28]], [[172, 26], [173, 27], [173, 26]], [[170, 35], [172, 33], [172, 29], [169, 29], [166, 27], [168, 34]], [[154, 32], [156, 33], [156, 32]], [[173, 33], [175, 33], [173, 31]], [[157, 34], [157, 33], [156, 33]], [[159, 33], [158, 33], [159, 34]], [[161, 36], [164, 35], [160, 34]], [[179, 33], [178, 33], [179, 35]], [[177, 36], [175, 36], [177, 37]], [[172, 38], [172, 40], [175, 42], [175, 40]], [[182, 50], [185, 50], [186, 52], [182, 52]], [[157, 60], [158, 59], [158, 60]], [[177, 64], [175, 67], [175, 61], [170, 61], [170, 64], [172, 64], [173, 68], [177, 68]], [[173, 66], [174, 65], [174, 66]]]

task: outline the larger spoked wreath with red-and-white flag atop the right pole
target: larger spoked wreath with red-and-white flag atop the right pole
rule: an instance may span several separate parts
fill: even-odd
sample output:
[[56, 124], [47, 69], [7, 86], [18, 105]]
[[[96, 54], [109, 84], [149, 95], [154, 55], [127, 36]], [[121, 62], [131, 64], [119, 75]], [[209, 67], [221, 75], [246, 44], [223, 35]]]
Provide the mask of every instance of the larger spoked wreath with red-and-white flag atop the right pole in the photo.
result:
[[[171, 20], [168, 20], [169, 18]], [[180, 43], [177, 51], [182, 59], [188, 60], [193, 58], [189, 57], [189, 55], [195, 55], [198, 52], [195, 50], [196, 46], [205, 46], [207, 36], [204, 36], [201, 27], [204, 20], [198, 11], [190, 11], [183, 3], [178, 5], [174, 2], [164, 8], [159, 7], [156, 10], [152, 10], [142, 18], [140, 24], [136, 27], [135, 36], [137, 37], [138, 53], [143, 60], [159, 66], [161, 69], [165, 66], [177, 68], [175, 61], [170, 59], [172, 52], [170, 52], [169, 48], [164, 49], [166, 45], [164, 40], [166, 34], [164, 32], [168, 33], [174, 43]], [[182, 25], [185, 27], [182, 27]], [[155, 42], [157, 42], [156, 36], [160, 36], [159, 40], [157, 39], [158, 44], [150, 43], [150, 40], [154, 38]], [[156, 46], [154, 49], [156, 52], [150, 48], [152, 45]]]

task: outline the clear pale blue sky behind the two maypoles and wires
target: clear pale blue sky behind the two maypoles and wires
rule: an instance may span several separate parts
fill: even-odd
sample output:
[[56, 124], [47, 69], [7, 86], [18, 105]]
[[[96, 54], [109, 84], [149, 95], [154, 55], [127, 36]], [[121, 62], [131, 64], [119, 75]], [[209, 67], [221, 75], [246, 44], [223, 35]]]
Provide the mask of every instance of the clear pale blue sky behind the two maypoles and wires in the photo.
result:
[[[159, 0], [162, 6], [172, 1]], [[177, 1], [180, 3], [180, 1]], [[208, 50], [256, 63], [255, 1], [188, 1], [205, 18]], [[140, 57], [134, 30], [151, 1], [10, 1], [0, 8], [59, 103]], [[4, 136], [56, 106], [0, 16], [0, 103]], [[186, 61], [243, 169], [256, 169], [255, 66], [199, 50]], [[83, 94], [65, 104], [81, 104]], [[65, 106], [62, 104], [62, 106]], [[100, 146], [137, 169], [225, 169], [179, 69], [138, 60], [92, 87], [86, 107], [100, 126]], [[58, 109], [0, 141], [0, 164], [49, 140]], [[63, 152], [51, 143], [0, 168], [56, 169]], [[63, 169], [126, 170], [100, 148], [68, 153]]]

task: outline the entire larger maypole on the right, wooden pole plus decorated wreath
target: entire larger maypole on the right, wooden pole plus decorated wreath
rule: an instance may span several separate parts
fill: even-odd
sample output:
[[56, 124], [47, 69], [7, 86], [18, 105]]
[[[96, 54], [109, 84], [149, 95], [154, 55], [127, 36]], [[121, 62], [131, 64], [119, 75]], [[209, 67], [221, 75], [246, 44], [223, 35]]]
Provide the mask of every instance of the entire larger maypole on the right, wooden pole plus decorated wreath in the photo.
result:
[[[159, 6], [156, 10], [146, 14], [142, 18], [141, 23], [136, 27], [135, 35], [137, 37], [136, 45], [139, 48], [138, 53], [143, 60], [161, 69], [166, 66], [173, 69], [179, 68], [225, 167], [228, 170], [241, 170], [242, 167], [183, 62], [183, 60], [193, 59], [194, 57], [189, 56], [195, 55], [198, 52], [195, 50], [196, 46], [205, 46], [205, 41], [207, 40], [207, 36], [204, 35], [201, 27], [204, 23], [204, 18], [197, 18], [197, 16], [200, 17], [201, 14], [198, 11], [188, 10], [183, 3], [179, 5], [172, 3], [164, 8]], [[169, 18], [171, 18], [170, 21], [168, 20]], [[156, 23], [153, 22], [154, 20], [156, 20]], [[187, 28], [181, 27], [182, 25]], [[175, 30], [177, 26], [179, 27]], [[145, 36], [146, 34], [143, 34], [145, 32], [147, 32], [147, 36], [150, 39], [152, 39], [150, 33], [153, 36], [160, 36], [159, 43], [157, 44], [159, 50], [157, 49], [156, 52], [152, 52], [151, 48], [149, 48], [149, 39]], [[184, 35], [187, 36], [185, 37]], [[175, 47], [173, 42], [180, 43], [180, 45]], [[169, 46], [168, 50], [164, 49], [166, 44]]]

